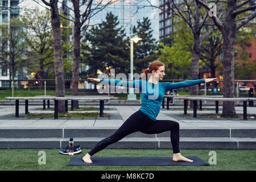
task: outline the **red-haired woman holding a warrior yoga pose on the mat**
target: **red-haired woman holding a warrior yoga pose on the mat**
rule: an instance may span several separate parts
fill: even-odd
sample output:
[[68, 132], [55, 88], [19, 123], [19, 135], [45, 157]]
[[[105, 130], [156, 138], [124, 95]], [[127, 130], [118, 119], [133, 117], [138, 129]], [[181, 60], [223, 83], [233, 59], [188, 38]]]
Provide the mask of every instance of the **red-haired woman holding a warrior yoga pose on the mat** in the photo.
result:
[[[182, 88], [185, 86], [192, 86], [197, 84], [204, 84], [205, 82], [210, 82], [216, 78], [207, 78], [200, 80], [189, 80], [177, 83], [171, 82], [159, 82], [163, 80], [164, 77], [164, 64], [160, 61], [154, 61], [150, 66], [143, 71], [143, 78], [146, 80], [135, 80], [135, 81], [121, 81], [112, 80], [115, 85], [130, 86], [133, 88], [139, 88], [141, 92], [141, 108], [132, 114], [113, 135], [105, 138], [98, 142], [96, 146], [90, 150], [82, 160], [85, 163], [92, 163], [90, 157], [96, 152], [101, 151], [106, 148], [109, 144], [118, 142], [127, 135], [141, 131], [145, 134], [158, 134], [164, 131], [171, 131], [171, 143], [173, 150], [172, 160], [174, 161], [185, 161], [193, 162], [193, 160], [187, 159], [180, 154], [179, 148], [179, 123], [170, 120], [156, 120], [156, 117], [160, 111], [162, 105], [162, 100], [164, 93], [168, 90]], [[98, 78], [88, 78], [90, 81], [105, 82], [110, 84], [110, 80], [98, 79]]]

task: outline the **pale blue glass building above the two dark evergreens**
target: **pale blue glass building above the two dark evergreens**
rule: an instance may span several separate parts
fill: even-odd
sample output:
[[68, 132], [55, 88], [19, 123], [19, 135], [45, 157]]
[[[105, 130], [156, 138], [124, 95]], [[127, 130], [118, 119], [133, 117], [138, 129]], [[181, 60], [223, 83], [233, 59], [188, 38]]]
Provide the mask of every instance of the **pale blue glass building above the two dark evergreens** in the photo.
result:
[[[94, 7], [98, 3], [106, 3], [109, 0], [94, 1]], [[152, 6], [150, 6], [152, 5]], [[155, 7], [153, 7], [155, 6]], [[112, 12], [115, 16], [118, 16], [119, 24], [125, 28], [126, 36], [132, 37], [132, 28], [137, 26], [138, 20], [143, 20], [143, 17], [147, 17], [151, 22], [151, 29], [153, 30], [153, 38], [159, 40], [159, 0], [117, 0], [111, 5], [108, 5], [100, 13], [97, 13], [90, 19], [90, 24], [101, 23], [106, 19], [106, 14]], [[92, 7], [93, 9], [93, 7]]]

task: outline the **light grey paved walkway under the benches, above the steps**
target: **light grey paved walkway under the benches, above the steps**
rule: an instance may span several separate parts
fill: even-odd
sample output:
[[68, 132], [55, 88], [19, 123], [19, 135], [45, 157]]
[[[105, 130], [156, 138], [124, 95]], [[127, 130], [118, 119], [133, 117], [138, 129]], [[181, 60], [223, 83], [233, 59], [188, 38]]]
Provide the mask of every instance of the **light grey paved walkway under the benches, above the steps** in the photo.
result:
[[[96, 106], [98, 107], [98, 106]], [[15, 118], [15, 106], [3, 106], [0, 105], [0, 127], [119, 127], [122, 125], [127, 118], [130, 117], [135, 111], [139, 109], [140, 106], [108, 106], [105, 105], [104, 113], [111, 114], [110, 117], [97, 117], [97, 118], [25, 118], [24, 116], [24, 106], [19, 107], [20, 118]], [[174, 107], [174, 106], [172, 106]], [[176, 107], [176, 106], [175, 106]], [[30, 113], [53, 113], [51, 110], [42, 110], [42, 106], [30, 106]], [[177, 107], [176, 107], [177, 108]], [[193, 118], [193, 111], [188, 110], [188, 114], [183, 115], [183, 107], [179, 106], [180, 110], [166, 110], [160, 109], [160, 113], [156, 119], [170, 119], [179, 122], [180, 129], [195, 129], [196, 127], [207, 127], [207, 128], [250, 128], [256, 129], [256, 118], [243, 119], [225, 119], [225, 118]], [[214, 114], [214, 106], [208, 106], [207, 110], [203, 111], [197, 110], [198, 114]], [[209, 110], [209, 109], [212, 110]], [[219, 108], [219, 113], [221, 114], [222, 107]], [[77, 112], [77, 111], [69, 111]], [[80, 111], [85, 112], [85, 111]], [[94, 112], [94, 111], [88, 111]], [[243, 113], [243, 107], [236, 107], [237, 114]], [[247, 107], [248, 115], [256, 114], [256, 107]]]

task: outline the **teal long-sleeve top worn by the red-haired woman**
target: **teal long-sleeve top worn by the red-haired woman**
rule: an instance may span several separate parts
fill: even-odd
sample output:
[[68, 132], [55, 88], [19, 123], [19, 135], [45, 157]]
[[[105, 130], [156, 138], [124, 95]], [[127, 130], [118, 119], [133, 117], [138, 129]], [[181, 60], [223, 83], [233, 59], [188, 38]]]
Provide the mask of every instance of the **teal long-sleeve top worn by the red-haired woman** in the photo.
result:
[[139, 89], [141, 93], [141, 107], [139, 110], [155, 121], [159, 114], [165, 92], [187, 86], [204, 84], [205, 79], [187, 80], [177, 83], [158, 82], [158, 84], [152, 84], [146, 80], [122, 81], [102, 78], [100, 83]]

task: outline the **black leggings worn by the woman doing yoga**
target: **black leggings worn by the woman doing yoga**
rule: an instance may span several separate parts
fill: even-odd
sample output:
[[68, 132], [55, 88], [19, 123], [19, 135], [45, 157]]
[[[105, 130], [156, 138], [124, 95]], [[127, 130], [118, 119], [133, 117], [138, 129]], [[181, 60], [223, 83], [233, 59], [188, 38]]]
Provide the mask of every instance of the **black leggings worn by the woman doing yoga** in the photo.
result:
[[174, 154], [180, 152], [179, 149], [179, 123], [170, 120], [156, 120], [153, 121], [146, 114], [138, 110], [132, 114], [113, 135], [108, 138], [102, 139], [96, 146], [88, 152], [90, 156], [96, 154], [106, 148], [109, 144], [118, 142], [127, 135], [141, 131], [145, 134], [158, 134], [164, 131], [171, 131], [171, 143]]

